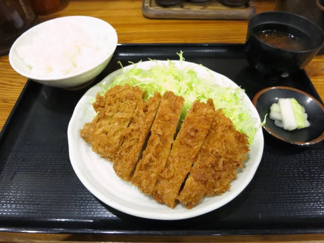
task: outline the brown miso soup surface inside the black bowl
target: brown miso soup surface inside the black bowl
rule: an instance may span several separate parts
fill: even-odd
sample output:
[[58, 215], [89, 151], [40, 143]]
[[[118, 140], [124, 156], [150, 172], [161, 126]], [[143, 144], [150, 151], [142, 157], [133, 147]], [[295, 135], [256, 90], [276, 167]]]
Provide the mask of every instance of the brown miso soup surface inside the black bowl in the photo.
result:
[[307, 33], [291, 26], [263, 24], [253, 28], [253, 32], [262, 42], [275, 48], [305, 51], [315, 47]]

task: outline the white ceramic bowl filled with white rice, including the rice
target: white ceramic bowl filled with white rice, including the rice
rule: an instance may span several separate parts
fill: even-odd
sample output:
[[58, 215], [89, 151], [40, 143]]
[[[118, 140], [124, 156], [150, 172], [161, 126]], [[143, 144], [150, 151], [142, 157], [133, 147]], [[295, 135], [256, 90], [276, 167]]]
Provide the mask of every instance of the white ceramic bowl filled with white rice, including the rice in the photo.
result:
[[60, 88], [83, 85], [109, 63], [117, 33], [107, 22], [68, 16], [38, 24], [13, 44], [9, 61], [21, 75]]

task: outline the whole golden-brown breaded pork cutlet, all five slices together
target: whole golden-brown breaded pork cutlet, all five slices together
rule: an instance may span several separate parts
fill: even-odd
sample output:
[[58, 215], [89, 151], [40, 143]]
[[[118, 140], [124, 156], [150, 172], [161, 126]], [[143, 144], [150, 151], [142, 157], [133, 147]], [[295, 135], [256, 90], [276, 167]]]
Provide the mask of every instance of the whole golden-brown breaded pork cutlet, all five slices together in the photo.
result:
[[97, 114], [81, 137], [113, 162], [117, 176], [170, 208], [180, 202], [191, 209], [230, 189], [249, 151], [247, 135], [209, 99], [193, 102], [175, 138], [184, 98], [171, 91], [144, 96], [130, 85], [98, 93]]

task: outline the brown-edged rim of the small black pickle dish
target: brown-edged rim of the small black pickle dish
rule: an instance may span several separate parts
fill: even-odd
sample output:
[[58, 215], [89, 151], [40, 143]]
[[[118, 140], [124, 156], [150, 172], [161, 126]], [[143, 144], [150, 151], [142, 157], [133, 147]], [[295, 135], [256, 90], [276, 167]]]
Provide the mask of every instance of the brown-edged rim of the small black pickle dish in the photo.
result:
[[[298, 92], [304, 96], [307, 96], [309, 98], [311, 98], [312, 100], [314, 100], [317, 105], [320, 107], [320, 109], [322, 110], [322, 112], [324, 113], [324, 106], [316, 99], [314, 98], [312, 95], [302, 91], [302, 90], [299, 90], [299, 89], [296, 89], [296, 88], [293, 88], [293, 87], [288, 87], [288, 86], [271, 86], [271, 87], [267, 87], [267, 88], [264, 88], [262, 90], [260, 90], [252, 99], [252, 103], [253, 105], [256, 107], [257, 109], [257, 101], [259, 99], [259, 97], [270, 91], [270, 90], [291, 90], [291, 91], [295, 91], [295, 92]], [[270, 135], [272, 135], [273, 137], [281, 140], [281, 141], [284, 141], [284, 142], [287, 142], [287, 143], [290, 143], [290, 144], [295, 144], [295, 145], [299, 145], [299, 146], [309, 146], [309, 145], [312, 145], [312, 144], [316, 144], [320, 141], [322, 141], [324, 139], [324, 131], [315, 139], [312, 139], [310, 141], [306, 141], [306, 142], [301, 142], [301, 141], [294, 141], [294, 140], [290, 140], [290, 139], [287, 139], [287, 138], [284, 138], [280, 135], [278, 135], [277, 133], [274, 133], [268, 126], [266, 126], [266, 124], [264, 124], [263, 126], [263, 129], [268, 132]]]

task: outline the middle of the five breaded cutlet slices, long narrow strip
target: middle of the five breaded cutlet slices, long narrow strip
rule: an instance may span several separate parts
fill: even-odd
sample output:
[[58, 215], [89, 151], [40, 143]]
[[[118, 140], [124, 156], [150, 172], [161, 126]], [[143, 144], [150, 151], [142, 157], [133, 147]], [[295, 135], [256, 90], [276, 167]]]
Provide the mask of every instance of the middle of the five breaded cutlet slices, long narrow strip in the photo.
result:
[[157, 178], [164, 169], [179, 123], [184, 99], [167, 91], [157, 109], [147, 146], [138, 162], [132, 183], [151, 195]]

